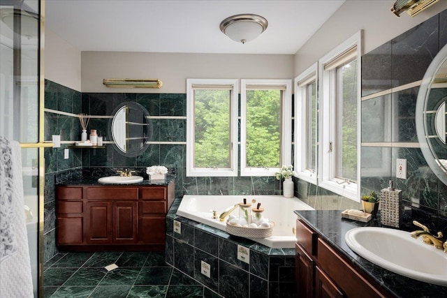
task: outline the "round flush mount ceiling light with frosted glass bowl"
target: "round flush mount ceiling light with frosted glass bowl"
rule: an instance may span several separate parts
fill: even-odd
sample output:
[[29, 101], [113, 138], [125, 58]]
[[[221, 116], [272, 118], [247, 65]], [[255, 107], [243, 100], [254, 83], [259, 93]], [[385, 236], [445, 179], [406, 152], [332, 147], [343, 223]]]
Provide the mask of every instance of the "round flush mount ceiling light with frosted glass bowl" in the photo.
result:
[[261, 15], [250, 13], [233, 15], [221, 22], [221, 31], [238, 43], [247, 43], [254, 40], [267, 29], [268, 22]]

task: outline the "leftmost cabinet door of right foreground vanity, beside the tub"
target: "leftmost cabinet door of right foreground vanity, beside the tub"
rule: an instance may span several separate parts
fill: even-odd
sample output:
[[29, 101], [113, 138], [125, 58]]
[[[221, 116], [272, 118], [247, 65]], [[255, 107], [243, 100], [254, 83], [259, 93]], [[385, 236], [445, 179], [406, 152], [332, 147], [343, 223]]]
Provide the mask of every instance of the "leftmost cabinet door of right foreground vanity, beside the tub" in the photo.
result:
[[315, 262], [300, 244], [295, 244], [297, 297], [314, 297]]

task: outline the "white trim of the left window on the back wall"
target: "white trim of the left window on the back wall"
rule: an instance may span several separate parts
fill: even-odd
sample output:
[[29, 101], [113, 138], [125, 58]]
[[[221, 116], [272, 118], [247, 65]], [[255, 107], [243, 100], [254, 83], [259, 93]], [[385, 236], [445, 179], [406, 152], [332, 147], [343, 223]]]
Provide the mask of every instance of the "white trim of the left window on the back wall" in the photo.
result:
[[[193, 84], [233, 85], [230, 102], [230, 167], [195, 168], [194, 165], [194, 89]], [[237, 176], [237, 109], [239, 80], [237, 79], [186, 79], [186, 177], [236, 177]]]

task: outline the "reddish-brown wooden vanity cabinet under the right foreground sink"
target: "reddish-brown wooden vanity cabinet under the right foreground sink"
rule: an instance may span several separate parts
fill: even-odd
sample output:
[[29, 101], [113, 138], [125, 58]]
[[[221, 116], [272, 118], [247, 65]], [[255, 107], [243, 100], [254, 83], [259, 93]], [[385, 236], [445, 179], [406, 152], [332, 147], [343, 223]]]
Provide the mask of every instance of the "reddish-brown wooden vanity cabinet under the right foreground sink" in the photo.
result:
[[296, 222], [297, 297], [388, 297], [306, 223]]

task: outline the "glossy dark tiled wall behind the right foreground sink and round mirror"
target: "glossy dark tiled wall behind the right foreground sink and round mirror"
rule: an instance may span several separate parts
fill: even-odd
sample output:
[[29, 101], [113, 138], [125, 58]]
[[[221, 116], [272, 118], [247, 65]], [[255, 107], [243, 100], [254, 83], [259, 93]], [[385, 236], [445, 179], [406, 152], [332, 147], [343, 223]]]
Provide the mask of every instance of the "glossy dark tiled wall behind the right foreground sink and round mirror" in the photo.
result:
[[[428, 66], [447, 44], [447, 10], [362, 56], [362, 193], [395, 181], [404, 203], [447, 217], [447, 186], [428, 167], [416, 136], [416, 101]], [[396, 179], [396, 159], [407, 179]]]

